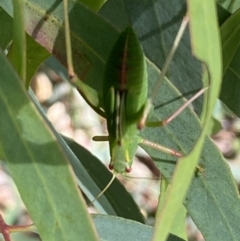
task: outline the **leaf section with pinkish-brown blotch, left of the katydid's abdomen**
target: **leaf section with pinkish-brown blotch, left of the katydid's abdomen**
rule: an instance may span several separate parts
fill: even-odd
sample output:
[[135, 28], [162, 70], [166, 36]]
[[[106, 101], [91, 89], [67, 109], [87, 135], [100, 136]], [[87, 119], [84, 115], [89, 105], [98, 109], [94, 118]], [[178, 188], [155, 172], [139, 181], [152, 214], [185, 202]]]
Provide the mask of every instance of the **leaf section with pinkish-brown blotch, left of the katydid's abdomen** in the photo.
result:
[[[27, 33], [66, 66], [62, 1], [21, 1]], [[101, 90], [105, 61], [119, 31], [79, 1], [68, 2], [74, 69], [84, 83]], [[13, 16], [10, 1], [0, 6]]]

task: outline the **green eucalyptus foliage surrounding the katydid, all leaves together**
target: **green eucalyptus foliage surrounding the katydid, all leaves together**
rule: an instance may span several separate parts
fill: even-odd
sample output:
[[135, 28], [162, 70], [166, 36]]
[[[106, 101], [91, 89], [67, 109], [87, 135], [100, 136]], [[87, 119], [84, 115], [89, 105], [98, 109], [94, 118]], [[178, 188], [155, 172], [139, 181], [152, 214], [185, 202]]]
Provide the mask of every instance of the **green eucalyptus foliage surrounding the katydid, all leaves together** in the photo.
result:
[[[92, 88], [91, 91], [101, 93], [103, 72], [111, 48], [119, 33], [126, 26], [131, 25], [140, 39], [146, 56], [149, 93], [151, 93], [186, 12], [186, 6], [176, 1], [158, 0], [153, 3], [139, 0], [109, 0], [99, 13], [95, 13], [78, 1], [69, 2], [74, 65], [78, 76], [81, 77], [86, 66], [91, 64], [89, 73], [84, 78], [84, 82]], [[10, 59], [15, 61], [13, 64], [15, 70], [1, 52], [0, 154], [1, 157], [4, 156], [8, 164], [42, 240], [98, 240], [93, 223], [101, 240], [118, 240], [117, 237], [121, 232], [123, 234], [120, 235], [119, 240], [123, 239], [124, 234], [127, 234], [124, 240], [127, 238], [134, 240], [136, 238], [134, 233], [138, 233], [139, 229], [142, 234], [137, 238], [138, 240], [142, 237], [144, 237], [142, 240], [151, 240], [154, 232], [154, 240], [165, 240], [168, 233], [174, 229], [171, 228], [172, 222], [175, 215], [178, 216], [174, 212], [178, 213], [179, 208], [181, 208], [180, 215], [185, 212], [182, 202], [203, 233], [205, 240], [238, 240], [240, 236], [238, 192], [227, 164], [205, 133], [218, 89], [221, 86], [219, 83], [221, 57], [218, 31], [220, 30], [222, 35], [223, 72], [226, 75], [228, 69], [232, 70], [234, 63], [239, 61], [239, 54], [237, 54], [239, 52], [237, 51], [239, 21], [236, 20], [239, 18], [239, 11], [231, 15], [220, 29], [214, 15], [214, 1], [201, 1], [199, 6], [196, 3], [190, 5], [190, 2], [192, 1], [189, 1], [187, 7], [192, 51], [196, 58], [204, 62], [207, 69], [202, 68], [201, 63], [192, 56], [190, 39], [186, 33], [168, 70], [169, 79], [164, 80], [159, 95], [154, 101], [155, 111], [151, 114], [151, 119], [164, 119], [173, 113], [184, 103], [182, 96], [189, 97], [201, 88], [202, 80], [204, 86], [209, 86], [209, 90], [205, 96], [204, 106], [203, 98], [199, 98], [194, 103], [197, 115], [200, 115], [203, 109], [201, 122], [189, 108], [168, 126], [154, 130], [147, 128], [141, 132], [144, 138], [175, 148], [185, 154], [176, 167], [176, 158], [146, 148], [163, 176], [171, 182], [170, 191], [166, 191], [166, 196], [161, 202], [163, 208], [157, 215], [157, 223], [161, 225], [156, 225], [154, 230], [146, 225], [127, 220], [144, 222], [132, 198], [117, 182], [97, 200], [96, 206], [102, 212], [126, 219], [111, 216], [94, 216], [93, 221], [90, 219], [83, 198], [76, 188], [75, 177], [71, 169], [75, 172], [78, 185], [90, 200], [110, 179], [108, 171], [84, 148], [77, 147], [76, 143], [70, 140], [64, 141], [46, 120], [32, 93], [29, 98], [16, 74], [23, 76], [16, 67], [22, 64], [19, 49], [12, 48], [11, 50], [13, 53]], [[59, 61], [65, 63], [62, 2], [19, 0], [19, 3], [24, 6], [27, 33], [51, 54], [54, 54]], [[99, 1], [93, 10], [101, 4], [102, 2]], [[1, 1], [0, 6], [4, 9], [0, 12], [0, 46], [5, 50], [12, 39], [12, 29], [16, 29], [16, 25], [12, 28], [12, 19], [5, 12], [14, 18], [16, 15], [13, 15], [10, 1]], [[199, 11], [199, 9], [202, 10]], [[211, 12], [207, 13], [207, 11]], [[227, 16], [222, 9], [219, 11], [219, 14], [221, 13]], [[220, 18], [223, 22], [223, 19], [227, 17], [220, 16]], [[21, 35], [22, 21], [15, 21], [14, 24], [17, 22], [20, 22], [17, 25], [20, 32], [18, 36], [22, 38], [15, 40], [16, 46], [24, 41]], [[230, 32], [229, 26], [232, 29]], [[14, 39], [16, 34], [14, 31]], [[27, 87], [31, 75], [48, 55], [40, 51], [40, 48], [33, 41], [31, 47], [27, 47], [26, 63], [27, 69], [29, 68], [26, 72]], [[81, 59], [83, 61], [79, 61], [79, 53], [84, 56]], [[25, 68], [24, 65], [20, 69], [22, 68]], [[222, 86], [225, 84], [223, 83]], [[233, 89], [232, 85], [222, 89], [221, 99], [224, 100], [224, 97], [229, 93], [231, 95], [231, 91], [235, 90], [237, 88]], [[88, 91], [89, 89], [86, 89], [85, 95], [90, 95]], [[239, 96], [236, 96], [236, 102], [237, 98]], [[202, 151], [201, 145], [203, 145]], [[87, 162], [81, 160], [86, 158]], [[194, 175], [197, 162], [204, 171]], [[185, 192], [187, 192], [186, 197]], [[119, 195], [124, 199], [118, 198]], [[172, 207], [175, 207], [174, 212]], [[165, 220], [167, 223], [163, 224]], [[162, 233], [163, 237], [160, 238], [157, 233], [161, 233], [161, 229], [164, 229], [165, 234]], [[170, 235], [168, 240], [184, 239]]]

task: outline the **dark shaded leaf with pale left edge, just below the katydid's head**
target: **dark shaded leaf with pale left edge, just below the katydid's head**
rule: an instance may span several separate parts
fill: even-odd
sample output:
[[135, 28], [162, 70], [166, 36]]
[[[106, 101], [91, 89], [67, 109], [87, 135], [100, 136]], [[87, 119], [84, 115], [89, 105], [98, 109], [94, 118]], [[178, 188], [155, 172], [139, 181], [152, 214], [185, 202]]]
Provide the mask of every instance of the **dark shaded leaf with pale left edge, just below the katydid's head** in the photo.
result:
[[[78, 185], [88, 199], [93, 200], [111, 179], [109, 170], [107, 170], [101, 161], [84, 147], [67, 137], [61, 137], [52, 124], [47, 120], [47, 117], [33, 92], [30, 90], [29, 93], [38, 108], [38, 111], [48, 123], [51, 131], [56, 136], [58, 143], [61, 145], [64, 154], [72, 165], [73, 171], [78, 179]], [[96, 185], [99, 188], [96, 188]], [[132, 196], [125, 190], [118, 180], [115, 180], [112, 186], [101, 196], [101, 198], [96, 200], [94, 204], [101, 213], [118, 215], [141, 223], [145, 222], [139, 207], [134, 202]]]

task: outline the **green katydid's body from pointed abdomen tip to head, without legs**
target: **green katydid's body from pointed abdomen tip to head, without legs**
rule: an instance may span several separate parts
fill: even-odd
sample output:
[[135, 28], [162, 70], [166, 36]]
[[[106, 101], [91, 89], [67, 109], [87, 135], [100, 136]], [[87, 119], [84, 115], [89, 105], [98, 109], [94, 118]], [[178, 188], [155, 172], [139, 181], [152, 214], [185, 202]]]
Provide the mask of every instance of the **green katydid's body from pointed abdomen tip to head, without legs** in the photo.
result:
[[110, 169], [131, 171], [139, 144], [138, 122], [147, 100], [147, 71], [141, 45], [131, 27], [120, 34], [109, 59], [103, 83], [110, 146]]

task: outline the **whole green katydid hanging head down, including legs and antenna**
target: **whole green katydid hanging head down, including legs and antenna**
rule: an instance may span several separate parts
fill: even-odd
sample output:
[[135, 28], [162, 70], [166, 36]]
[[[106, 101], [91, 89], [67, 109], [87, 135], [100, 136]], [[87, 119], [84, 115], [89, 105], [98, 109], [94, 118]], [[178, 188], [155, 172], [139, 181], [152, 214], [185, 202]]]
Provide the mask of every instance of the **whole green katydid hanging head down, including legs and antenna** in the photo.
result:
[[[68, 53], [69, 77], [80, 92], [84, 94], [85, 86], [76, 77], [71, 58], [71, 44], [69, 36], [69, 23], [67, 12], [67, 0], [65, 3], [65, 31]], [[188, 17], [182, 21], [181, 27], [163, 67], [159, 81], [154, 92], [147, 98], [148, 81], [145, 57], [141, 44], [131, 27], [127, 27], [120, 35], [109, 55], [105, 67], [103, 80], [102, 105], [104, 111], [98, 108], [98, 113], [107, 120], [108, 136], [95, 136], [95, 141], [109, 141], [111, 161], [109, 168], [113, 170], [113, 178], [103, 190], [110, 186], [116, 174], [124, 174], [131, 171], [133, 158], [139, 144], [150, 146], [170, 155], [181, 157], [182, 154], [174, 149], [164, 147], [158, 143], [140, 137], [139, 131], [146, 127], [159, 127], [167, 125], [177, 117], [191, 102], [198, 98], [205, 90], [201, 89], [183, 106], [174, 112], [169, 118], [157, 122], [148, 122], [147, 117], [152, 108], [152, 100], [157, 95], [159, 86], [164, 79], [167, 68], [174, 55], [179, 41], [188, 23]], [[87, 94], [84, 95], [90, 105], [94, 105]], [[101, 192], [101, 194], [103, 193]], [[100, 194], [100, 195], [101, 195]], [[99, 195], [99, 196], [100, 196]], [[98, 197], [99, 197], [98, 196]]]

